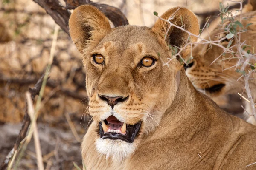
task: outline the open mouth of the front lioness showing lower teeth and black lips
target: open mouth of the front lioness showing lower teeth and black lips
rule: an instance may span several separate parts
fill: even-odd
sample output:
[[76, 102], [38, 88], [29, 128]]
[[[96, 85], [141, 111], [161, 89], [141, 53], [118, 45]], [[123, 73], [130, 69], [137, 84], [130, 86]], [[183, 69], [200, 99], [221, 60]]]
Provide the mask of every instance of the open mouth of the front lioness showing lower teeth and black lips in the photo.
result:
[[141, 122], [128, 125], [120, 122], [115, 116], [111, 115], [102, 122], [99, 122], [100, 139], [121, 139], [132, 143], [140, 130]]

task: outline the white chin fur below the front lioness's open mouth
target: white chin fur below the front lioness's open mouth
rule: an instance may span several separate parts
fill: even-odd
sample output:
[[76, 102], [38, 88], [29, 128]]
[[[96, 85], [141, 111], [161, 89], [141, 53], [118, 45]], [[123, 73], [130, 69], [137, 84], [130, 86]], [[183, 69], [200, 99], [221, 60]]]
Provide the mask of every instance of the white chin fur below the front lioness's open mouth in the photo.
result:
[[121, 163], [135, 150], [133, 143], [128, 143], [119, 139], [97, 139], [96, 148], [99, 153], [106, 156], [106, 159], [111, 158], [112, 161], [116, 163]]

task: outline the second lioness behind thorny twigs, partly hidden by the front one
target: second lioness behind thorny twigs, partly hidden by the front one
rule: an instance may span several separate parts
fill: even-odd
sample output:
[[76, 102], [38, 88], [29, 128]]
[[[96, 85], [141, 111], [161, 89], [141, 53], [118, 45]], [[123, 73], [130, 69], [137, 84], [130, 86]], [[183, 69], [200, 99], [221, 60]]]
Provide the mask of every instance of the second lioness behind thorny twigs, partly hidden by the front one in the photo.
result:
[[[250, 45], [247, 47], [245, 51], [250, 50], [251, 52], [255, 52], [255, 44], [256, 44], [256, 0], [250, 0], [249, 3], [244, 7], [244, 14], [242, 15], [244, 19], [241, 24], [243, 24], [244, 28], [247, 28], [248, 31], [241, 33], [241, 42], [244, 44]], [[240, 15], [236, 16], [236, 20], [240, 20]], [[218, 23], [216, 21], [216, 23]], [[252, 23], [250, 25], [250, 23]], [[230, 24], [229, 21], [224, 24], [218, 23], [215, 25], [213, 31], [206, 34], [203, 38], [206, 40], [218, 40], [226, 36], [224, 34], [224, 27]], [[243, 28], [237, 28], [238, 30], [242, 30]], [[221, 45], [227, 47], [230, 40], [224, 39], [221, 42]], [[237, 51], [236, 41], [233, 40], [233, 43], [230, 47], [233, 46], [232, 50]], [[247, 97], [246, 91], [244, 91], [244, 78], [240, 78], [242, 76], [237, 69], [241, 69], [237, 63], [239, 62], [239, 58], [233, 57], [231, 54], [226, 53], [226, 55], [222, 55], [224, 51], [222, 48], [210, 45], [210, 44], [198, 44], [195, 49], [192, 51], [192, 56], [194, 57], [192, 62], [189, 65], [185, 65], [186, 74], [189, 79], [192, 81], [195, 88], [207, 94], [207, 96], [211, 97], [218, 105], [222, 105], [222, 98], [224, 95], [243, 94]], [[221, 57], [220, 57], [221, 56]], [[256, 63], [255, 59], [251, 60], [252, 63]], [[247, 65], [245, 70], [251, 70], [250, 65]], [[240, 79], [239, 79], [240, 78]], [[249, 81], [250, 91], [254, 102], [256, 102], [256, 74], [251, 75], [251, 80]], [[238, 81], [239, 79], [239, 81]], [[244, 91], [244, 93], [243, 93]], [[248, 97], [247, 97], [248, 98]], [[230, 100], [232, 105], [233, 100]], [[243, 100], [245, 109], [244, 113], [238, 114], [238, 116], [242, 119], [245, 119], [247, 122], [256, 125], [256, 121], [251, 114], [251, 105], [250, 103]], [[225, 107], [225, 105], [223, 105]], [[236, 106], [234, 106], [236, 107]], [[241, 107], [241, 105], [239, 105]], [[250, 115], [249, 115], [250, 114]]]

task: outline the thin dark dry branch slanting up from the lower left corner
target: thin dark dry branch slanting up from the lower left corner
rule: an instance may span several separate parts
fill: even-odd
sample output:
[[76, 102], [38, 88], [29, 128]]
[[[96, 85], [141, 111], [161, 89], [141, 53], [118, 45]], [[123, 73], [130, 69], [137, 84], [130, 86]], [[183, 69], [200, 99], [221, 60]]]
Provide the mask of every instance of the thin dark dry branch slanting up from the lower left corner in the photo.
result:
[[[31, 94], [31, 98], [34, 101], [35, 96], [39, 94], [39, 91], [41, 89], [42, 83], [44, 79], [44, 74], [40, 77], [38, 82], [35, 84], [34, 88], [29, 88], [29, 92]], [[28, 107], [27, 107], [27, 102], [26, 102], [26, 113], [25, 116], [23, 117], [23, 125], [21, 127], [20, 133], [17, 136], [17, 139], [15, 141], [14, 147], [12, 150], [9, 152], [9, 154], [6, 156], [6, 158], [3, 160], [0, 170], [5, 170], [7, 165], [9, 164], [9, 161], [11, 160], [12, 156], [14, 155], [15, 152], [17, 152], [18, 147], [20, 145], [20, 142], [25, 138], [27, 130], [30, 125], [30, 118], [28, 115]]]

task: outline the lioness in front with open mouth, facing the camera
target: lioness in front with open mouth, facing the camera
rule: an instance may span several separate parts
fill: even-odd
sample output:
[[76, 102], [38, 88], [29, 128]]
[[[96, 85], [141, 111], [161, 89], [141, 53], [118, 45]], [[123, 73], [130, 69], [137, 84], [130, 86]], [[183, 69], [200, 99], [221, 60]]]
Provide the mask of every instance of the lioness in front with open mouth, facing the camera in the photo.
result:
[[[161, 17], [199, 32], [186, 8]], [[163, 67], [172, 56], [168, 45], [184, 46], [187, 33], [160, 19], [152, 28], [111, 29], [104, 14], [86, 5], [73, 11], [69, 26], [83, 54], [93, 116], [81, 144], [87, 170], [256, 168], [246, 167], [256, 162], [256, 127], [198, 92], [177, 59]], [[188, 47], [180, 54], [189, 53]]]

